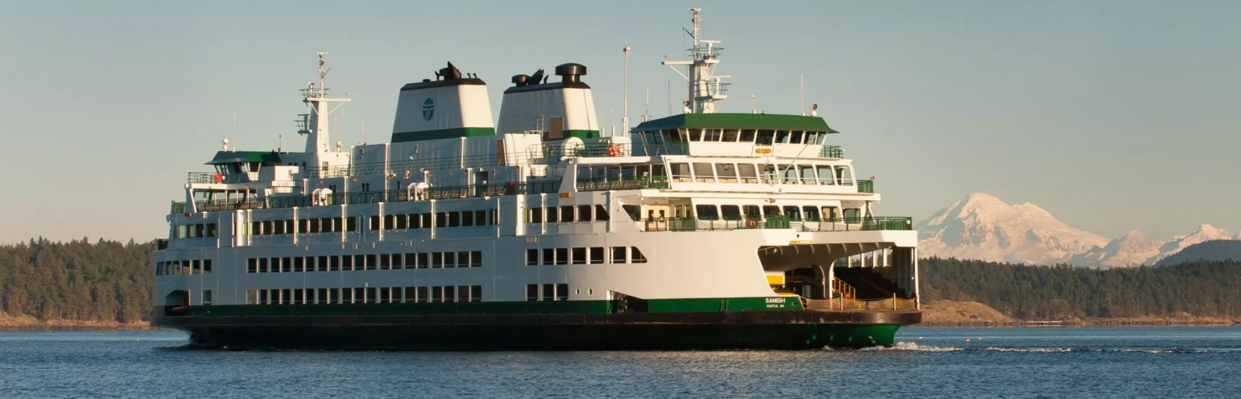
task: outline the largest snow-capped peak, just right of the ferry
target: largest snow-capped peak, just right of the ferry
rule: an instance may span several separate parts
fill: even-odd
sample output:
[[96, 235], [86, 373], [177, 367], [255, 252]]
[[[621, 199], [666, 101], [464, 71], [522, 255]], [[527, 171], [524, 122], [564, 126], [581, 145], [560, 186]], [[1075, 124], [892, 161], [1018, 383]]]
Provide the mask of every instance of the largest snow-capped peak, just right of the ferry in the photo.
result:
[[974, 193], [917, 225], [923, 256], [1047, 265], [1104, 246], [1108, 239], [1073, 229], [1034, 204], [1009, 205]]

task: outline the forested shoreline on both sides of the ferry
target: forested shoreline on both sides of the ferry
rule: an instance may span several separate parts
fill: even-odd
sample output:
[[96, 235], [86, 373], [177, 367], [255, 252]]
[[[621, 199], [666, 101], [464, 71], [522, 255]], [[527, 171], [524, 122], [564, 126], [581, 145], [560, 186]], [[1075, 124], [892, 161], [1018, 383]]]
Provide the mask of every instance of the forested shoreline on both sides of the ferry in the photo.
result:
[[[132, 324], [151, 300], [155, 242], [31, 239], [0, 245], [0, 311], [38, 322]], [[922, 302], [977, 301], [1019, 319], [1241, 316], [1241, 262], [1095, 270], [920, 261]]]

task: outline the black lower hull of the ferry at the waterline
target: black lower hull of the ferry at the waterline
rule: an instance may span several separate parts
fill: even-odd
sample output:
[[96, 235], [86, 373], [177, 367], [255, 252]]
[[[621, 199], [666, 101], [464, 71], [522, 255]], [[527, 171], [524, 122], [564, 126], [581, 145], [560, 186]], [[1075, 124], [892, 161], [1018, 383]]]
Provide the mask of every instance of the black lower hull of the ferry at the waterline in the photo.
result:
[[921, 312], [154, 317], [230, 349], [628, 351], [890, 346]]

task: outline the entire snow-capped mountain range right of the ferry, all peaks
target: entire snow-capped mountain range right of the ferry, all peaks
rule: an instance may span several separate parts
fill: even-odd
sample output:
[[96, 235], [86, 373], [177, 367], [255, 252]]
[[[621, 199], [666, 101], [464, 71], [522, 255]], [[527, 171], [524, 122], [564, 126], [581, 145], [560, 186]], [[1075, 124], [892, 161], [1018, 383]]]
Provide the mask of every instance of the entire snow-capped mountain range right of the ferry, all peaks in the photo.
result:
[[1108, 240], [1071, 227], [1034, 204], [1009, 205], [974, 193], [923, 220], [917, 226], [923, 257], [975, 259], [997, 262], [1088, 267], [1154, 265], [1188, 246], [1211, 240], [1241, 240], [1211, 225], [1162, 241], [1142, 231]]

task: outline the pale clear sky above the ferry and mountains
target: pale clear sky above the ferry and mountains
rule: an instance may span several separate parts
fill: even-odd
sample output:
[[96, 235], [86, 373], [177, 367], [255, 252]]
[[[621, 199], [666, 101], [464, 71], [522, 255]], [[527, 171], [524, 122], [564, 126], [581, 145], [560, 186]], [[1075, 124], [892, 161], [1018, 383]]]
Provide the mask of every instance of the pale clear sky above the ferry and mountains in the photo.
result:
[[733, 76], [720, 111], [819, 104], [882, 215], [980, 191], [1109, 237], [1241, 229], [1241, 2], [755, 5], [0, 0], [0, 242], [165, 236], [221, 139], [303, 148], [316, 51], [352, 98], [333, 128], [346, 145], [386, 142], [398, 88], [446, 61], [490, 83], [495, 116], [510, 76], [583, 63], [619, 129], [625, 42], [630, 119], [648, 91], [666, 116], [684, 83], [659, 62], [684, 58], [691, 6]]

